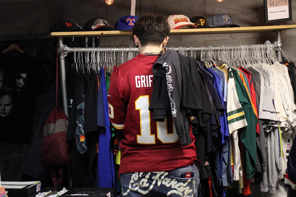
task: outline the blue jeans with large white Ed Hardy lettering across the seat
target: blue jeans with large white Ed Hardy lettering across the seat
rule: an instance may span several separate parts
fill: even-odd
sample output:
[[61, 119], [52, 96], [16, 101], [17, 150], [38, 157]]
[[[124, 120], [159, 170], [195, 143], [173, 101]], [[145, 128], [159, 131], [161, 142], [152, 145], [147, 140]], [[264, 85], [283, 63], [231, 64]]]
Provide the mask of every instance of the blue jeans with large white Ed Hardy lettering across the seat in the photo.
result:
[[[194, 177], [181, 178], [183, 172], [193, 172]], [[197, 165], [193, 164], [170, 171], [123, 173], [120, 181], [125, 197], [197, 197], [200, 177]]]

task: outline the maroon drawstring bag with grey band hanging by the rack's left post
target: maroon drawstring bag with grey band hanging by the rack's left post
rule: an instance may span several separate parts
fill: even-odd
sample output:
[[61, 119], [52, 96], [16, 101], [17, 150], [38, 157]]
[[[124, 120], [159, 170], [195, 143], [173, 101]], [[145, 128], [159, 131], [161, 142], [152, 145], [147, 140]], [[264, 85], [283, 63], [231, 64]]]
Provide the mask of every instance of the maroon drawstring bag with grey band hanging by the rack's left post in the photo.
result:
[[[67, 115], [59, 106], [56, 105], [43, 125], [41, 140], [41, 165], [42, 167], [51, 170], [52, 182], [54, 183], [55, 187], [61, 185], [63, 177], [63, 166], [67, 165], [71, 159], [69, 145], [66, 143], [68, 122], [69, 119]], [[56, 169], [59, 170], [58, 181], [55, 174]]]

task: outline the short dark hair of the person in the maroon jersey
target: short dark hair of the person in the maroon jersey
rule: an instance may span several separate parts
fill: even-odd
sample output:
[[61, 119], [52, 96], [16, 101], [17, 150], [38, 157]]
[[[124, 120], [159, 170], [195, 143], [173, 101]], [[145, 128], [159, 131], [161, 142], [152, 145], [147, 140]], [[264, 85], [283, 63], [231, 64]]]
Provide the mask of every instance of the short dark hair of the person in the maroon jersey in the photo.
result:
[[136, 35], [141, 46], [147, 44], [161, 45], [163, 40], [169, 35], [170, 26], [161, 15], [147, 14], [140, 17], [133, 26], [133, 35]]

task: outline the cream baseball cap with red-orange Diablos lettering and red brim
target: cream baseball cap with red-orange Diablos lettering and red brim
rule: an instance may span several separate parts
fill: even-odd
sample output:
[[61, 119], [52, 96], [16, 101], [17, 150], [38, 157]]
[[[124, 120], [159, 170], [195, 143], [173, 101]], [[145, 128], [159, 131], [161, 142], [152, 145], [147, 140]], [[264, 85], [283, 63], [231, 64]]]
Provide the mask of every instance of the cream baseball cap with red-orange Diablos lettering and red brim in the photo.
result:
[[184, 15], [170, 15], [168, 17], [168, 24], [171, 29], [190, 29], [196, 28], [192, 22], [190, 22], [189, 18]]

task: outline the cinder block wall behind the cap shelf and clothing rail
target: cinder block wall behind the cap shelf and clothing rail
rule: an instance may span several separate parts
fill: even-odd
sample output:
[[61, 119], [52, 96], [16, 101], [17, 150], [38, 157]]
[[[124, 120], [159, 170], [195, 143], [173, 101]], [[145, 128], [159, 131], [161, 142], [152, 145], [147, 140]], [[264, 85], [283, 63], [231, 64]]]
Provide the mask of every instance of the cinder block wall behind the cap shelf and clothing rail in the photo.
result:
[[[104, 0], [1, 0], [0, 1], [0, 35], [48, 33], [49, 28], [61, 20], [70, 20], [83, 26], [89, 19], [101, 16], [114, 25], [121, 16], [130, 14], [130, 0], [114, 0], [107, 5]], [[235, 24], [242, 27], [276, 25], [265, 24], [263, 0], [143, 0], [141, 15], [171, 14], [186, 16], [203, 16], [208, 19], [214, 14], [228, 14]], [[292, 21], [281, 25], [296, 24], [296, 2], [292, 0]], [[136, 16], [139, 16], [139, 0], [136, 1]], [[282, 33], [283, 51], [289, 60], [296, 60], [296, 30]], [[201, 45], [239, 45], [262, 44], [266, 40], [274, 42], [275, 32], [216, 34], [216, 35], [182, 35], [170, 36], [168, 46]], [[128, 37], [101, 38], [101, 46], [126, 46]]]

